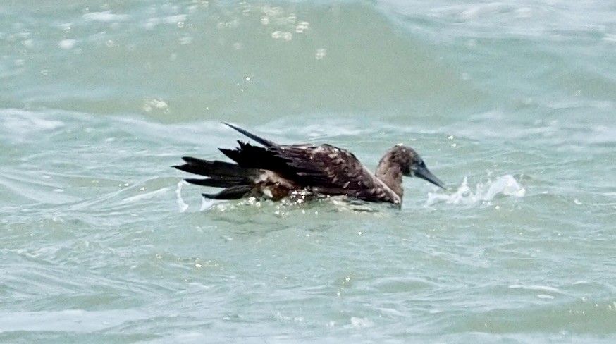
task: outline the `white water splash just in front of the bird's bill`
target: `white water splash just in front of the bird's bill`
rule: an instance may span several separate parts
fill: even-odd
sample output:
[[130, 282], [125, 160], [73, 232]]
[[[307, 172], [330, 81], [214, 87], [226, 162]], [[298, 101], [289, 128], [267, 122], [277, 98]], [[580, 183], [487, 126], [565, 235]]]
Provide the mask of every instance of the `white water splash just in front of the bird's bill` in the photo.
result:
[[488, 183], [477, 183], [473, 191], [468, 185], [467, 177], [462, 180], [457, 190], [451, 195], [443, 195], [430, 192], [426, 200], [426, 207], [433, 204], [446, 202], [451, 204], [476, 204], [479, 202], [490, 202], [496, 195], [502, 194], [512, 197], [524, 197], [526, 189], [520, 185], [512, 175], [500, 176], [496, 180]]

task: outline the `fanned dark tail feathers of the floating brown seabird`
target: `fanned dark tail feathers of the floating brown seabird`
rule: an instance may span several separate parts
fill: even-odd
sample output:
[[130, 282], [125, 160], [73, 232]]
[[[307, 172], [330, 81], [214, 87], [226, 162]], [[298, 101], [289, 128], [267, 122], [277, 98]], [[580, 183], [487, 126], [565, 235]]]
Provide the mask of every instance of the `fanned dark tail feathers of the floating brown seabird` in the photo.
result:
[[194, 173], [208, 178], [188, 178], [187, 183], [195, 185], [212, 186], [214, 188], [224, 188], [217, 194], [203, 194], [211, 199], [239, 199], [248, 197], [254, 188], [254, 180], [259, 176], [260, 171], [255, 168], [245, 168], [236, 164], [224, 161], [210, 161], [184, 156], [183, 165], [173, 166], [178, 170]]

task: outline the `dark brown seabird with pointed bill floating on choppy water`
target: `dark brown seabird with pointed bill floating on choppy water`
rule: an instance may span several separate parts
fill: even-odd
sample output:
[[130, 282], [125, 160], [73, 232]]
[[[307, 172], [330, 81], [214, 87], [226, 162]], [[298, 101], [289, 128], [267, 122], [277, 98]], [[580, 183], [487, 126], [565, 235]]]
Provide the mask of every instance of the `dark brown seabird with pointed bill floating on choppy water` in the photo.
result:
[[378, 163], [376, 173], [355, 154], [328, 144], [278, 145], [237, 125], [224, 123], [261, 146], [238, 140], [235, 149], [218, 148], [234, 162], [183, 156], [184, 164], [172, 166], [206, 178], [186, 178], [190, 184], [223, 188], [202, 194], [207, 199], [257, 197], [278, 201], [285, 197], [346, 196], [366, 202], [402, 207], [402, 176], [419, 177], [445, 189], [414, 149], [395, 145]]

